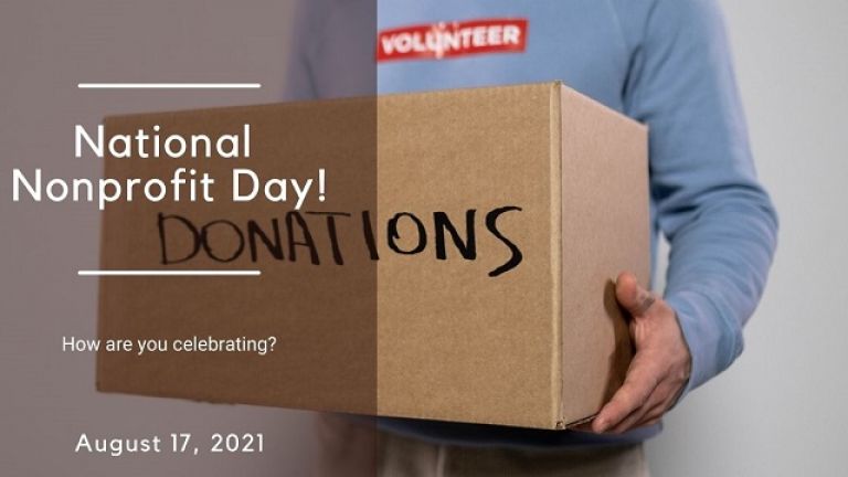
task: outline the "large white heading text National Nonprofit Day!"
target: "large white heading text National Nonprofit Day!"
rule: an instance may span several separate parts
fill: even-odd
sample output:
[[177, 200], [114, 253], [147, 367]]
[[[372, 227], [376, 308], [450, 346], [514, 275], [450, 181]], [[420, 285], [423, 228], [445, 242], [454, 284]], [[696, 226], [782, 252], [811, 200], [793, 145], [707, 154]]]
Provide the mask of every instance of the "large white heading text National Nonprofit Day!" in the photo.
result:
[[[247, 159], [251, 157], [251, 125], [232, 134], [210, 136], [193, 134], [181, 136], [163, 134], [156, 125], [150, 130], [138, 129], [136, 134], [118, 134], [105, 137], [103, 125], [91, 134], [85, 127], [76, 125], [75, 157], [82, 158], [85, 152], [104, 158], [105, 153], [115, 160], [150, 160], [150, 159], [209, 159], [226, 160]], [[129, 159], [134, 158], [134, 159]], [[131, 202], [148, 200], [160, 202], [166, 199], [173, 201], [214, 202], [215, 179], [209, 172], [198, 172], [193, 167], [177, 167], [169, 178], [130, 178], [117, 180], [114, 178], [45, 178], [40, 168], [31, 172], [21, 169], [12, 170], [12, 199], [14, 202], [32, 200], [34, 202], [91, 202], [103, 210], [107, 203], [118, 200]], [[318, 169], [316, 178], [269, 178], [262, 179], [251, 169], [233, 168], [232, 191], [233, 202], [248, 202], [263, 198], [269, 202], [286, 202], [299, 210], [309, 194], [325, 200], [326, 173]]]

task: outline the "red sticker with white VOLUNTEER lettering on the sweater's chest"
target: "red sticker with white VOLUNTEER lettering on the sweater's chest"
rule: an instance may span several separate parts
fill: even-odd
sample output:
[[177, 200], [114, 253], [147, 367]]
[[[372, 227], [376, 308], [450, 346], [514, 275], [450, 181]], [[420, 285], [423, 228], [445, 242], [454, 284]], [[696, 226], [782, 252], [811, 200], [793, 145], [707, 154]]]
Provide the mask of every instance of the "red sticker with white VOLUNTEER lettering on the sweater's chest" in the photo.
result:
[[481, 19], [425, 23], [383, 30], [377, 61], [441, 60], [480, 53], [521, 53], [527, 49], [527, 19]]

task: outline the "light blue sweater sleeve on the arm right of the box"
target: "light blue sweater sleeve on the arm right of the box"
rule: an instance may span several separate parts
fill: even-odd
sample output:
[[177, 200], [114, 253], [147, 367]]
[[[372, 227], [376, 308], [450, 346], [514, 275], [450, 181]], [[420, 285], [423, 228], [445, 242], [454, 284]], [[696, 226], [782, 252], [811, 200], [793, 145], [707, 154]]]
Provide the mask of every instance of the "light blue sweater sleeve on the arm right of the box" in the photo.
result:
[[670, 243], [666, 300], [692, 357], [685, 393], [742, 351], [777, 218], [759, 183], [724, 26], [713, 0], [657, 0], [624, 92], [650, 128], [655, 220]]

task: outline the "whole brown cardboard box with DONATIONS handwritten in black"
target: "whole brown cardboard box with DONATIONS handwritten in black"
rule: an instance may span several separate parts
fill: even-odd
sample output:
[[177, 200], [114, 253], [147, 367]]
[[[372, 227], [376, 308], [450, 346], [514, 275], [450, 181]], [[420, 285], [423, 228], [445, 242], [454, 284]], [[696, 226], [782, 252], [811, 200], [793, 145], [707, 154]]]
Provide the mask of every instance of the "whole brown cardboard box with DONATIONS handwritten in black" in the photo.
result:
[[[104, 277], [99, 335], [273, 336], [274, 351], [102, 350], [100, 391], [564, 428], [619, 386], [612, 279], [649, 269], [645, 127], [547, 83], [120, 116], [106, 136], [244, 124], [250, 158], [106, 159], [120, 180], [189, 165], [219, 197], [108, 205], [102, 267], [262, 275]], [[233, 203], [236, 167], [322, 168], [324, 201]]]

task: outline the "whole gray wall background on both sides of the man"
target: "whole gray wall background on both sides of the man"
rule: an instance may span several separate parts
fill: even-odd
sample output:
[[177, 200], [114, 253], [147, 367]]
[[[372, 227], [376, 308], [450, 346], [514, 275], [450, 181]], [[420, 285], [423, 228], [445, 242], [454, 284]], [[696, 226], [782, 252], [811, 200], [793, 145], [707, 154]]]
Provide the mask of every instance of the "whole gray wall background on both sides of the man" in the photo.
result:
[[[2, 173], [44, 167], [96, 177], [94, 161], [73, 160], [72, 126], [96, 124], [104, 113], [209, 106], [211, 97], [275, 100], [289, 3], [0, 0]], [[745, 353], [671, 413], [648, 445], [651, 467], [660, 477], [837, 475], [848, 444], [848, 2], [722, 3], [760, 173], [781, 213], [781, 244]], [[103, 51], [116, 38], [120, 47]], [[266, 86], [214, 96], [75, 88], [163, 78]], [[0, 192], [0, 475], [303, 474], [308, 413], [95, 393], [94, 358], [63, 354], [59, 340], [95, 331], [96, 284], [74, 272], [96, 264], [98, 216], [87, 206], [24, 208]], [[271, 452], [74, 456], [72, 441], [84, 431], [265, 432]]]

